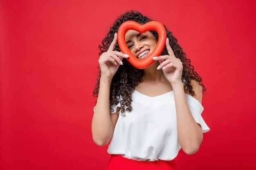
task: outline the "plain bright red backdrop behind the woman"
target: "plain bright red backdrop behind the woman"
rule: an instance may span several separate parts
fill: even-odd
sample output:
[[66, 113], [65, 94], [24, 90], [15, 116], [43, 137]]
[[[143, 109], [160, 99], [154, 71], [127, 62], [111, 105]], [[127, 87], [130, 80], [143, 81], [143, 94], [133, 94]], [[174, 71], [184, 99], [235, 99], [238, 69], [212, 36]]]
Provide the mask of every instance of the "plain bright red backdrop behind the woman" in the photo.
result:
[[179, 169], [256, 169], [254, 0], [1, 0], [1, 170], [106, 168], [90, 128], [98, 45], [130, 9], [173, 32], [207, 87], [211, 130]]

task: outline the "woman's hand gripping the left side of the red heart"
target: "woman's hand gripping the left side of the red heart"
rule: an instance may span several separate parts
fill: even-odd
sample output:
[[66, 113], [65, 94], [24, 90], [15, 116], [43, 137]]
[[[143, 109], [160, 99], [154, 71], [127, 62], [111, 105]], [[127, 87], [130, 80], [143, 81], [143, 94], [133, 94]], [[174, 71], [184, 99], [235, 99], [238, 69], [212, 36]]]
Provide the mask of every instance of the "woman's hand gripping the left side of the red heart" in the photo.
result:
[[117, 33], [114, 35], [114, 40], [111, 42], [108, 51], [101, 54], [99, 58], [99, 66], [101, 69], [101, 77], [112, 79], [120, 65], [123, 65], [122, 59], [128, 58], [127, 54], [119, 51], [113, 51], [117, 44]]

